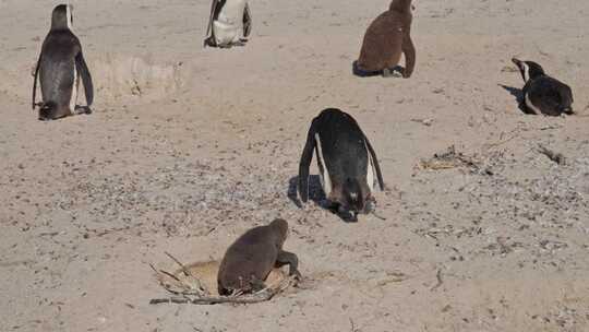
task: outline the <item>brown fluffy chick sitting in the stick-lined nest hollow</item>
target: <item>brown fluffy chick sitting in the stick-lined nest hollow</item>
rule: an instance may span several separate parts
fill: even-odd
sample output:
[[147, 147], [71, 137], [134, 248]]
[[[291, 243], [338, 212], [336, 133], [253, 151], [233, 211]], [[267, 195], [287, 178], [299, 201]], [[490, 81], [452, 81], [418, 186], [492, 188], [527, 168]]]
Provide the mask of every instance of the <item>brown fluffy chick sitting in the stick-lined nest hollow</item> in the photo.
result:
[[267, 226], [254, 227], [227, 249], [217, 275], [220, 295], [263, 289], [264, 281], [275, 266], [289, 264], [289, 275], [300, 273], [294, 253], [283, 250], [288, 236], [288, 223], [275, 220]]

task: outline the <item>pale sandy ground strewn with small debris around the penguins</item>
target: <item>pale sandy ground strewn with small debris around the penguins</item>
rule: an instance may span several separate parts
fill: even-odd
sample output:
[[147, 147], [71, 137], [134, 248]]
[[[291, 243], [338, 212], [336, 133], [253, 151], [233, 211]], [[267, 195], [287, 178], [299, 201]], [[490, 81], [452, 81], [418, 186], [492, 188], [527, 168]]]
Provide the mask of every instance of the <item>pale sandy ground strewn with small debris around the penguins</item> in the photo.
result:
[[[589, 331], [588, 1], [416, 1], [410, 80], [350, 74], [385, 0], [254, 0], [230, 50], [202, 48], [206, 0], [72, 2], [95, 112], [39, 122], [56, 3], [0, 1], [0, 331]], [[513, 56], [567, 82], [579, 115], [524, 115], [500, 85], [522, 86]], [[291, 199], [326, 107], [370, 137], [386, 221]], [[452, 145], [474, 165], [417, 167]], [[304, 288], [148, 305], [166, 251], [218, 259], [277, 216]]]

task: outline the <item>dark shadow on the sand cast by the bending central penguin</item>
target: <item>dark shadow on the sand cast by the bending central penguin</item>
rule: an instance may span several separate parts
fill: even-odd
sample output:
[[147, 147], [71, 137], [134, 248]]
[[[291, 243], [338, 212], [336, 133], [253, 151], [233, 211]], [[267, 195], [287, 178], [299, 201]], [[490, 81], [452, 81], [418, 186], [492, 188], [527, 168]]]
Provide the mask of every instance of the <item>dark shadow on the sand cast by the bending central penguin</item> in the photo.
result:
[[[298, 194], [298, 187], [299, 187], [299, 177], [294, 176], [290, 178], [288, 181], [288, 198], [297, 208], [302, 209], [303, 202], [299, 199]], [[323, 192], [323, 187], [321, 186], [321, 180], [318, 175], [311, 175], [309, 176], [309, 200], [314, 202], [317, 206], [321, 209], [327, 210], [332, 212], [333, 214], [337, 215], [341, 221], [345, 223], [356, 223], [358, 222], [358, 217], [356, 217], [351, 213], [345, 213], [338, 211], [338, 209], [334, 209], [328, 204], [327, 197], [325, 195], [325, 192]]]

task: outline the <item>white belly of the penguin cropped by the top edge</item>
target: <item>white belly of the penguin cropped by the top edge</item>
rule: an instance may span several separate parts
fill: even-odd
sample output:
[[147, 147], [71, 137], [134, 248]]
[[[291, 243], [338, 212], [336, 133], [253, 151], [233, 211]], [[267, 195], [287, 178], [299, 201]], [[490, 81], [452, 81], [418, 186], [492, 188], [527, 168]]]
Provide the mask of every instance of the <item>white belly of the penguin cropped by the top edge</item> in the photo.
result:
[[244, 0], [227, 0], [219, 16], [213, 22], [217, 45], [230, 45], [243, 36]]

